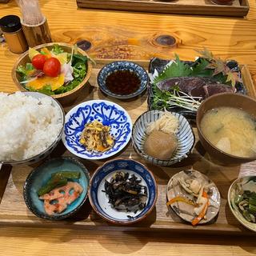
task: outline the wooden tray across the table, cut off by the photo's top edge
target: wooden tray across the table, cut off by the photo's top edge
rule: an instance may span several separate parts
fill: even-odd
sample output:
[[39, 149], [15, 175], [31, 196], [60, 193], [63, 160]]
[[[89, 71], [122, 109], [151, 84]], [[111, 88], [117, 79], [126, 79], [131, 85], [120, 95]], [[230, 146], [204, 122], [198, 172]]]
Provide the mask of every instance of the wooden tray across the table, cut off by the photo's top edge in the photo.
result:
[[234, 0], [230, 5], [217, 5], [210, 0], [77, 0], [77, 5], [106, 10], [236, 17], [244, 17], [249, 11], [247, 0]]

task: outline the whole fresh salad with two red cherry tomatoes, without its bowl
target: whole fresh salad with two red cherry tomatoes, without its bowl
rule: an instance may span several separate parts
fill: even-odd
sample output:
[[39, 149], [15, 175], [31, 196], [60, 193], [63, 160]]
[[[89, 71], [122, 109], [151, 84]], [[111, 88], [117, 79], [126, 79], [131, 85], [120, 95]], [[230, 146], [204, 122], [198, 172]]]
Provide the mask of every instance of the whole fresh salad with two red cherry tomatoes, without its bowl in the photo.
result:
[[71, 53], [62, 46], [29, 50], [30, 62], [18, 66], [19, 82], [26, 90], [56, 95], [73, 90], [86, 77], [88, 58], [73, 46]]

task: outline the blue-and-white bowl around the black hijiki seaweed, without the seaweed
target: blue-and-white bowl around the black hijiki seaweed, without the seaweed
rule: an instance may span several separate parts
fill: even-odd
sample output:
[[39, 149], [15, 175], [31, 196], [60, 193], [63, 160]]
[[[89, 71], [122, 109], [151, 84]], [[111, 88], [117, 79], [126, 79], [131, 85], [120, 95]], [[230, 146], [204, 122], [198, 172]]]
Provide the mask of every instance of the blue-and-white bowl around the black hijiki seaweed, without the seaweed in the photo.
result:
[[[111, 207], [106, 193], [102, 192], [105, 180], [109, 181], [114, 173], [120, 170], [130, 175], [135, 174], [136, 177], [142, 179], [142, 185], [147, 187], [148, 199], [146, 207], [143, 210], [137, 211], [137, 213], [115, 210]], [[151, 210], [154, 209], [157, 194], [158, 187], [153, 174], [150, 170], [146, 169], [146, 166], [131, 159], [114, 159], [106, 162], [95, 171], [90, 180], [89, 199], [91, 206], [98, 215], [114, 224], [131, 224], [146, 218]]]

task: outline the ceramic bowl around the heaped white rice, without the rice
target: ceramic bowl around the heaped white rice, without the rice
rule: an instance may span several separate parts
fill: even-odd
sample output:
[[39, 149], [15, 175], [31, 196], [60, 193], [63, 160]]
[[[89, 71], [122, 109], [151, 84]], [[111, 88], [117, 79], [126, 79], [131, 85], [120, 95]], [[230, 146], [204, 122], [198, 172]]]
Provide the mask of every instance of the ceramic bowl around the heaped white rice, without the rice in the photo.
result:
[[[22, 93], [26, 94], [26, 96], [30, 96], [30, 97], [38, 98], [38, 99], [45, 98], [45, 97], [50, 98], [50, 96], [47, 96], [45, 94], [40, 94], [40, 93], [37, 93], [37, 92], [27, 91], [27, 92], [22, 92]], [[55, 138], [54, 142], [52, 142], [52, 144], [50, 146], [48, 146], [46, 148], [46, 150], [43, 150], [41, 153], [36, 154], [31, 158], [27, 158], [27, 159], [20, 160], [20, 161], [14, 161], [14, 160], [1, 161], [0, 160], [0, 164], [1, 163], [10, 164], [10, 165], [13, 165], [13, 166], [14, 165], [20, 165], [20, 164], [30, 165], [30, 164], [33, 164], [34, 162], [39, 162], [43, 158], [46, 158], [46, 156], [48, 156], [54, 150], [54, 148], [58, 145], [58, 142], [61, 140], [62, 133], [63, 133], [63, 130], [64, 130], [65, 112], [62, 109], [62, 106], [60, 105], [60, 103], [58, 101], [56, 101], [54, 98], [50, 98], [50, 99], [52, 101], [52, 105], [58, 108], [59, 113], [60, 113], [59, 120], [62, 123], [62, 129], [59, 131], [58, 136], [57, 136], [57, 138]]]

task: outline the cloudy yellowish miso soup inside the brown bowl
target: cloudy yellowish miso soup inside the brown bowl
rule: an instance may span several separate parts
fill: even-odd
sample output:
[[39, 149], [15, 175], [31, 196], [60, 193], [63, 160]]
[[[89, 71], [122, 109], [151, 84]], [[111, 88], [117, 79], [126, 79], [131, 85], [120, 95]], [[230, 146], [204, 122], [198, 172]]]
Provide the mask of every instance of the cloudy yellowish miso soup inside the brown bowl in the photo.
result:
[[238, 157], [256, 155], [256, 120], [234, 107], [209, 110], [201, 121], [202, 133], [219, 150]]

